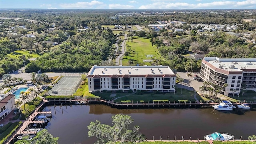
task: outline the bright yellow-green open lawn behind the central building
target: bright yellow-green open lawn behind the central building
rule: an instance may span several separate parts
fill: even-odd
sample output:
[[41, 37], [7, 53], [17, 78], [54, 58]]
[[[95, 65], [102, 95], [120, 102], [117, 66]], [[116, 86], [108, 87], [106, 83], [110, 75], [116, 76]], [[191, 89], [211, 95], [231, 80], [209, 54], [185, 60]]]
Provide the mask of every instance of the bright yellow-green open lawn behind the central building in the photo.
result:
[[[154, 59], [162, 59], [161, 54], [158, 52], [158, 49], [156, 46], [152, 47], [151, 42], [148, 38], [140, 38], [138, 36], [134, 36], [133, 42], [126, 41], [126, 44], [131, 46], [131, 51], [129, 56], [124, 56], [122, 58], [122, 65], [128, 66], [129, 59], [134, 60], [134, 64], [140, 64], [140, 65], [151, 65], [151, 62], [143, 62], [143, 60], [151, 60]], [[126, 46], [126, 50], [128, 47]], [[137, 54], [138, 53], [138, 54]], [[153, 55], [152, 58], [147, 58], [146, 55]]]

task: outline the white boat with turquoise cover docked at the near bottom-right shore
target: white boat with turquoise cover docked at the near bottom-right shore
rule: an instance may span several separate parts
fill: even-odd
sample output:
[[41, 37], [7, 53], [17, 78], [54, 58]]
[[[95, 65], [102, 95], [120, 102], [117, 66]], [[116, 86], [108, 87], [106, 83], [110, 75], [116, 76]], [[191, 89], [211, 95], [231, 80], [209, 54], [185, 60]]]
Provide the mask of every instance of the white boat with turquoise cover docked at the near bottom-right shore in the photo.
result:
[[219, 133], [219, 132], [208, 134], [205, 137], [206, 140], [231, 140], [232, 138], [234, 138], [234, 135], [232, 134]]

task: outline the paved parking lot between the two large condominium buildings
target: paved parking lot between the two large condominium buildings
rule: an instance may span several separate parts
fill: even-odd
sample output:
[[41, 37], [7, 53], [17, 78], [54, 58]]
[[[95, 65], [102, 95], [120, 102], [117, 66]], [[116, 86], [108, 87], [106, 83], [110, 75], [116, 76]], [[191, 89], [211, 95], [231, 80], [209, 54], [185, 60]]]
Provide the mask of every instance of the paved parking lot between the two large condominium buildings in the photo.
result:
[[[195, 74], [199, 76], [200, 74], [199, 72], [191, 73], [192, 76], [186, 76], [187, 72], [177, 72], [177, 74], [178, 76], [184, 79], [184, 82], [182, 82], [182, 85], [183, 85], [182, 88], [186, 88], [189, 90], [192, 90], [192, 88], [194, 88], [194, 90], [196, 90], [197, 92], [200, 92], [199, 87], [203, 85], [203, 81], [198, 82], [197, 80], [193, 79]], [[177, 87], [181, 87], [181, 85], [177, 84]]]

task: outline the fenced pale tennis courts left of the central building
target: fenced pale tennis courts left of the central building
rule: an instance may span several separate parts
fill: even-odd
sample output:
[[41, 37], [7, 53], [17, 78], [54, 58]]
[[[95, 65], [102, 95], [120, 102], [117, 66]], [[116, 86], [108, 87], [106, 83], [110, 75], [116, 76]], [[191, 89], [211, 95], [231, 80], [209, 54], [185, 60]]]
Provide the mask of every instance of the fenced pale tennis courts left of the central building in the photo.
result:
[[50, 95], [71, 95], [76, 92], [80, 83], [81, 76], [63, 76], [60, 80], [52, 86], [49, 90]]

